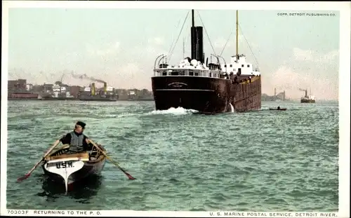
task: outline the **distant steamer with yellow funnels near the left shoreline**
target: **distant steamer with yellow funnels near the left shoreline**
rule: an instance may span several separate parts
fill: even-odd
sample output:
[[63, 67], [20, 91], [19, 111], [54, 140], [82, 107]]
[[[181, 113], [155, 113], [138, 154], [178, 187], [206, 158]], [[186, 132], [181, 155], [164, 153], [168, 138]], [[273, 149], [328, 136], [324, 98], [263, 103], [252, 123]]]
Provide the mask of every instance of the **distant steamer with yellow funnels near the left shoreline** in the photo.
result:
[[96, 92], [95, 83], [91, 83], [91, 86], [84, 88], [84, 92], [79, 94], [79, 100], [81, 101], [98, 101], [98, 102], [116, 102], [118, 95], [114, 92], [114, 88], [107, 87], [107, 83], [104, 82], [103, 90]]

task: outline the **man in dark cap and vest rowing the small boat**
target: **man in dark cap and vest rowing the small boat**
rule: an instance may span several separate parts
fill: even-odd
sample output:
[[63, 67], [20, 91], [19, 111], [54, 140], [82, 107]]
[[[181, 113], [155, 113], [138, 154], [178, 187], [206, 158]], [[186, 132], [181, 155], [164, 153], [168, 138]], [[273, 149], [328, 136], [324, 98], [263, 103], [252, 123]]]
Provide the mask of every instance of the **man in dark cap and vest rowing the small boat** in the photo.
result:
[[86, 123], [78, 121], [74, 126], [72, 132], [60, 139], [62, 144], [69, 144], [68, 154], [77, 154], [80, 152], [88, 151], [93, 148], [93, 144], [89, 142], [89, 138], [83, 134]]

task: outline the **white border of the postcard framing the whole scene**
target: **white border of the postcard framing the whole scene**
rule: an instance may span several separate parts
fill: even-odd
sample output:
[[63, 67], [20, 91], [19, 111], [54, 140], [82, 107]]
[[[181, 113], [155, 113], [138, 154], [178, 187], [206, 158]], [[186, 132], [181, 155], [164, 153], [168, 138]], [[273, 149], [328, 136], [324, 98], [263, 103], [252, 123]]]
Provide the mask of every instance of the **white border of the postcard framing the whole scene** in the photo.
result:
[[[282, 10], [282, 11], [340, 11], [340, 75], [339, 76], [339, 211], [324, 217], [350, 217], [350, 2], [289, 2], [289, 1], [2, 1], [2, 50], [1, 50], [1, 215], [19, 216], [72, 216], [48, 214], [42, 210], [6, 210], [6, 151], [7, 151], [7, 80], [8, 80], [8, 8], [179, 8], [179, 9], [230, 9], [233, 10]], [[74, 216], [149, 216], [149, 217], [237, 217], [234, 212], [166, 212], [166, 211], [74, 211]], [[246, 217], [320, 217], [320, 213], [299, 214], [250, 214]]]

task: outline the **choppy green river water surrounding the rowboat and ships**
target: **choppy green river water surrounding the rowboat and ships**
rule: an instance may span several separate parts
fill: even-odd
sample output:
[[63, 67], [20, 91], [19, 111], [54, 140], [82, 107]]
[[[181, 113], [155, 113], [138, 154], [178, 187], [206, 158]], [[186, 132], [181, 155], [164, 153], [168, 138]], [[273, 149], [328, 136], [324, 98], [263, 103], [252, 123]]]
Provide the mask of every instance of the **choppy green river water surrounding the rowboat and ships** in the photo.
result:
[[[288, 110], [268, 110], [279, 104]], [[137, 179], [107, 162], [67, 196], [41, 168], [16, 183], [78, 120]], [[154, 102], [11, 101], [7, 155], [9, 209], [338, 210], [337, 103], [212, 116]]]

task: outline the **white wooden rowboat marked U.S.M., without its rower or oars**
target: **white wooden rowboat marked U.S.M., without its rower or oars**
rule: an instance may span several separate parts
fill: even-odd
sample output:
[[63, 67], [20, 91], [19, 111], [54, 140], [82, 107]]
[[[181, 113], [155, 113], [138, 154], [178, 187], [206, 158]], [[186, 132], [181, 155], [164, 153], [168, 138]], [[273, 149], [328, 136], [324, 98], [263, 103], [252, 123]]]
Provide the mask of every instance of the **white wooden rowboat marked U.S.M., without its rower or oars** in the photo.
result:
[[[100, 149], [106, 151], [101, 145]], [[49, 154], [44, 159], [42, 168], [45, 175], [55, 182], [68, 185], [81, 182], [91, 175], [100, 175], [106, 163], [106, 157], [93, 147], [91, 151], [77, 154], [67, 154], [69, 147], [65, 146]]]

